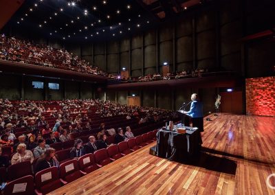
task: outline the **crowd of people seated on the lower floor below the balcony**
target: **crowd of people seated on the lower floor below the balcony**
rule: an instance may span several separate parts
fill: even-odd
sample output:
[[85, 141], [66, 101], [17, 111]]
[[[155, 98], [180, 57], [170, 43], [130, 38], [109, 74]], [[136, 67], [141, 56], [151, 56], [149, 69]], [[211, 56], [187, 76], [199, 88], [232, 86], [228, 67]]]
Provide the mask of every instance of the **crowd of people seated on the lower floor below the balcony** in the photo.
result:
[[[50, 108], [59, 106], [60, 109]], [[94, 120], [89, 118], [88, 113], [104, 117], [124, 116], [124, 120], [136, 118], [138, 124], [146, 122], [166, 121], [175, 116], [173, 111], [157, 108], [142, 108], [137, 106], [126, 106], [109, 101], [100, 100], [62, 100], [62, 101], [17, 101], [0, 100], [0, 148], [9, 146], [12, 150], [10, 161], [0, 155], [0, 166], [7, 167], [10, 163], [22, 161], [36, 161], [36, 171], [43, 170], [45, 163], [45, 152], [53, 152], [50, 144], [65, 142], [74, 139], [73, 133], [83, 130], [91, 130]], [[72, 117], [72, 116], [75, 117]], [[54, 125], [47, 122], [48, 118], [54, 118]], [[83, 122], [84, 126], [83, 126]], [[62, 125], [63, 124], [63, 125]], [[73, 127], [74, 126], [74, 127]], [[25, 128], [28, 134], [22, 133], [18, 137], [14, 132], [18, 128]], [[97, 128], [96, 135], [89, 136], [89, 142], [83, 144], [83, 140], [75, 139], [74, 148], [70, 151], [72, 159], [87, 153], [93, 153], [101, 148], [107, 148], [107, 137], [113, 136], [115, 144], [133, 138], [131, 127], [125, 129], [106, 129], [104, 123]], [[47, 138], [45, 139], [45, 135]], [[1, 150], [1, 149], [0, 149]], [[50, 154], [49, 153], [49, 154]], [[54, 156], [53, 156], [54, 157]], [[39, 160], [39, 158], [43, 159]], [[48, 162], [58, 165], [57, 159], [48, 159]]]

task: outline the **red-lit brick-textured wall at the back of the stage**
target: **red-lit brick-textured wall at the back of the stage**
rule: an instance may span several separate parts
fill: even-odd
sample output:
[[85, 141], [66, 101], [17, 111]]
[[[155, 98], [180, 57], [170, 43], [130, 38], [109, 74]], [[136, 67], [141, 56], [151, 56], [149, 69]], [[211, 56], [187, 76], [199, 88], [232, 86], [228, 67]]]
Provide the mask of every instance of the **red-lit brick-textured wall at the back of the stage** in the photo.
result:
[[246, 86], [246, 113], [275, 116], [275, 77], [248, 78]]

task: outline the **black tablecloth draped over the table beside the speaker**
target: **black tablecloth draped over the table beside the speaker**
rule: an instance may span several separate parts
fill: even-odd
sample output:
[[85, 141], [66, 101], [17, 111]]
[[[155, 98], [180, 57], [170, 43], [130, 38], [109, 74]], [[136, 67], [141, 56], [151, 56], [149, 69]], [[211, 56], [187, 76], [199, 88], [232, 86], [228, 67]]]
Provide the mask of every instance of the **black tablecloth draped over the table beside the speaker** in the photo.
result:
[[187, 157], [197, 154], [202, 144], [199, 130], [191, 130], [192, 127], [186, 127], [186, 129], [185, 134], [159, 129], [157, 156], [172, 161], [184, 161]]

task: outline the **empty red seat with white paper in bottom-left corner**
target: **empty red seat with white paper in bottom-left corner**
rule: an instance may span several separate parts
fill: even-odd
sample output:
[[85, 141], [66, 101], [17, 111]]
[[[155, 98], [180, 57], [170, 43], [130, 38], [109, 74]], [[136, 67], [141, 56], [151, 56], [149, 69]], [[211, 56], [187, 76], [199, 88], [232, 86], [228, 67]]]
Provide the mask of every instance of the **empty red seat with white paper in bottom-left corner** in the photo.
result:
[[34, 194], [34, 177], [23, 176], [20, 179], [9, 182], [4, 188], [4, 194], [30, 195]]

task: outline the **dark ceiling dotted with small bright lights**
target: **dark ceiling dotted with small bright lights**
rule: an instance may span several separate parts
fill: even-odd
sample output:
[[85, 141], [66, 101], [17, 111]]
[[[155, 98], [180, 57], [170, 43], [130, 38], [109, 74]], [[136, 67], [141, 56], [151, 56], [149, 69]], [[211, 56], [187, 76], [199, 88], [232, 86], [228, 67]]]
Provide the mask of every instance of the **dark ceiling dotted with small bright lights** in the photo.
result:
[[63, 41], [129, 36], [173, 19], [200, 0], [25, 0], [8, 25]]

